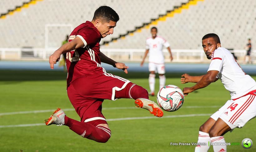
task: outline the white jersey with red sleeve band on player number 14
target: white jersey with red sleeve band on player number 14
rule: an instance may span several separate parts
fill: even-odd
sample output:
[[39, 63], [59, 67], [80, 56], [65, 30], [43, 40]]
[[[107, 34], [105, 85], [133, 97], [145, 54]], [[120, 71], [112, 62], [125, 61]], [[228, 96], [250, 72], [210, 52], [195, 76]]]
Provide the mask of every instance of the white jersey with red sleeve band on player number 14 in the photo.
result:
[[250, 91], [256, 90], [256, 82], [245, 74], [234, 56], [224, 47], [218, 47], [212, 52], [211, 63], [208, 71], [219, 71], [217, 77], [230, 92], [231, 99], [244, 96]]

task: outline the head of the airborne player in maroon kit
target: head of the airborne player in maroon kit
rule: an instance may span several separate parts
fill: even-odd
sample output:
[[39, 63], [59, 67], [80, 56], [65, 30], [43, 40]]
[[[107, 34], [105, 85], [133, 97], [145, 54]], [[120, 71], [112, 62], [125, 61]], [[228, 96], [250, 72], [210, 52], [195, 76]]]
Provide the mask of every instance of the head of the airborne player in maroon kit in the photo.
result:
[[119, 16], [111, 7], [101, 6], [94, 12], [92, 23], [100, 31], [101, 37], [105, 38], [113, 34]]

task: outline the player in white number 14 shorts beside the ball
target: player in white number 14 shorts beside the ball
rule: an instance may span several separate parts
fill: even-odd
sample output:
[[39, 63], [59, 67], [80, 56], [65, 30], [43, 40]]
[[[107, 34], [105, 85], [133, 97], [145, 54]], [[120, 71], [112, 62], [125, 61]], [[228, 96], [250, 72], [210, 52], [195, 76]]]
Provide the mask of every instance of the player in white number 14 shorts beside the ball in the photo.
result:
[[202, 46], [207, 58], [211, 59], [209, 69], [202, 76], [182, 75], [181, 83], [196, 83], [193, 87], [183, 88], [184, 95], [220, 79], [231, 99], [200, 126], [198, 143], [207, 145], [195, 147], [195, 152], [207, 152], [211, 142], [214, 152], [224, 152], [227, 146], [219, 144], [225, 143], [223, 135], [236, 127], [243, 127], [256, 117], [256, 82], [244, 73], [234, 56], [221, 47], [218, 35], [206, 34], [202, 38]]

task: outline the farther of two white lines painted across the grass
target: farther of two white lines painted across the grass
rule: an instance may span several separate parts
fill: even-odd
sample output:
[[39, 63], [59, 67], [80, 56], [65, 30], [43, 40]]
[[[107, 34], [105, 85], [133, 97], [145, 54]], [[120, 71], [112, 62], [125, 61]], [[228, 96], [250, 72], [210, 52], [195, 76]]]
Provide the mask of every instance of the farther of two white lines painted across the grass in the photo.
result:
[[[184, 108], [217, 108], [221, 107], [221, 105], [210, 105], [210, 106], [184, 106]], [[102, 108], [102, 110], [122, 110], [122, 109], [137, 109], [136, 107], [110, 107], [110, 108]], [[34, 111], [17, 111], [17, 112], [7, 112], [0, 113], [0, 116], [3, 115], [12, 115], [12, 114], [36, 114], [36, 113], [45, 113], [45, 112], [53, 112], [55, 109], [51, 110], [34, 110]], [[74, 109], [63, 109], [64, 111], [75, 111]]]

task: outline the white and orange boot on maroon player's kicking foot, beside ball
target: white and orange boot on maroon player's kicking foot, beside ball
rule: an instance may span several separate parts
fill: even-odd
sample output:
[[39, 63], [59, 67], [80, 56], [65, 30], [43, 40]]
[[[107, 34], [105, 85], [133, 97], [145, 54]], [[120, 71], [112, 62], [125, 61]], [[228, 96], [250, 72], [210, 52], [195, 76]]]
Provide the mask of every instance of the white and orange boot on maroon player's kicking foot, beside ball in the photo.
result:
[[145, 98], [138, 98], [135, 100], [135, 106], [150, 111], [150, 114], [154, 114], [156, 117], [162, 117], [164, 115], [161, 108], [153, 101]]

